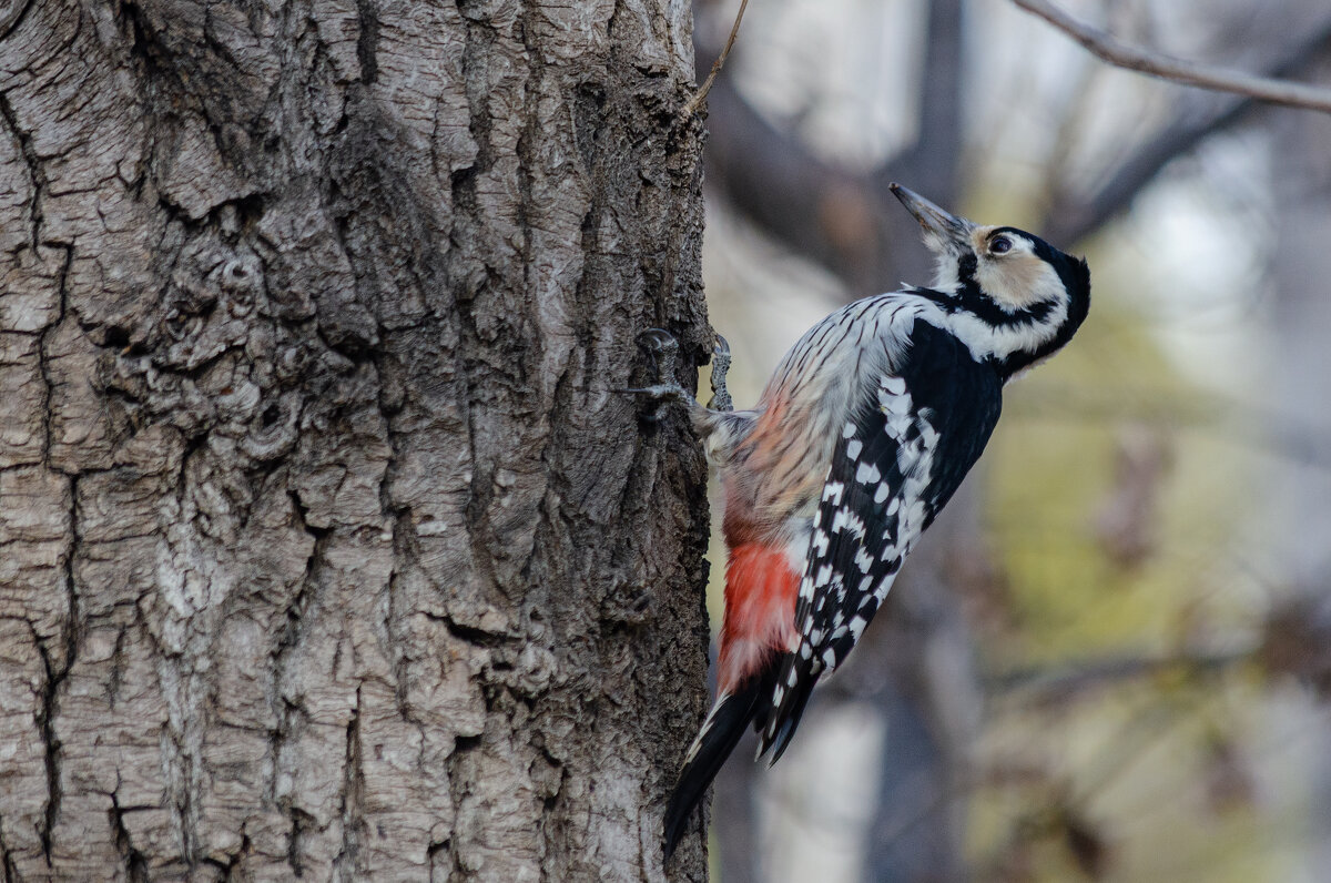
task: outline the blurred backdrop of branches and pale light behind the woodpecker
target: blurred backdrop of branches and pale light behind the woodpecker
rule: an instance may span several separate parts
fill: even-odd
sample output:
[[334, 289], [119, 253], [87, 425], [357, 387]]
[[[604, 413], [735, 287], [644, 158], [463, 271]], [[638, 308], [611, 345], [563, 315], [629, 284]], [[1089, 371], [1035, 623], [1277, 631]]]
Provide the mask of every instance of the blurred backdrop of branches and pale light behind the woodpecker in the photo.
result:
[[[697, 4], [700, 77], [737, 7]], [[1062, 7], [1331, 88], [1326, 0]], [[1094, 281], [780, 766], [723, 772], [715, 879], [1331, 880], [1331, 119], [1010, 0], [761, 0], [707, 123], [740, 408], [837, 305], [930, 281], [889, 181]]]

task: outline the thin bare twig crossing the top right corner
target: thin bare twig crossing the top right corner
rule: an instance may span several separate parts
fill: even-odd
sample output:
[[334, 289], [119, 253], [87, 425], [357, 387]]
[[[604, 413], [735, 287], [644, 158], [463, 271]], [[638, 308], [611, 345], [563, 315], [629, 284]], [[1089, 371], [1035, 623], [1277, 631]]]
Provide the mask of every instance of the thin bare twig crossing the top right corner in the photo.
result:
[[1291, 108], [1331, 113], [1331, 89], [1251, 76], [1195, 61], [1185, 61], [1162, 52], [1129, 45], [1099, 28], [1078, 21], [1046, 0], [1012, 0], [1032, 15], [1040, 16], [1095, 57], [1129, 71], [1138, 71], [1174, 83], [1215, 92], [1247, 95], [1260, 101]]

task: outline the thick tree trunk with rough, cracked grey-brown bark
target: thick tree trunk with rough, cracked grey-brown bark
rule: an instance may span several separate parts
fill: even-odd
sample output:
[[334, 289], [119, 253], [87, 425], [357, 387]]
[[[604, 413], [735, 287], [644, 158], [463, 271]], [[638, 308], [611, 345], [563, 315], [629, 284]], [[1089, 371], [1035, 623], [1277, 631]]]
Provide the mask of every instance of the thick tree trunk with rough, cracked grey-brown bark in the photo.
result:
[[704, 876], [689, 16], [0, 4], [5, 880]]

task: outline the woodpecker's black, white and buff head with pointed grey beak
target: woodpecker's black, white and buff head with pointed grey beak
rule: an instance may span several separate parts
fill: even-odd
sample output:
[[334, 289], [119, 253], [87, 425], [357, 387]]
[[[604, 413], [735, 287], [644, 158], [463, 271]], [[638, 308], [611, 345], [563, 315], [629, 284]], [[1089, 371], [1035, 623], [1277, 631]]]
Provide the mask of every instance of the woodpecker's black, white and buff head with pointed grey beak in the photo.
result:
[[937, 274], [930, 288], [952, 330], [1005, 377], [1053, 354], [1086, 318], [1090, 269], [1034, 233], [981, 226], [893, 184], [924, 228]]

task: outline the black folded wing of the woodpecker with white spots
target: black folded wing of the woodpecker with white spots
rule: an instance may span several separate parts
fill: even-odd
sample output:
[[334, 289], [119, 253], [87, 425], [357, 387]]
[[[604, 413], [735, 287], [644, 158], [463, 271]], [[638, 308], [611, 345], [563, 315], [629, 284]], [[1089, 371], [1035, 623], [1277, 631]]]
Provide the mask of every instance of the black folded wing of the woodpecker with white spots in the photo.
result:
[[800, 646], [781, 659], [761, 734], [773, 763], [998, 420], [1001, 381], [950, 334], [917, 321], [896, 362], [836, 442], [795, 611]]

